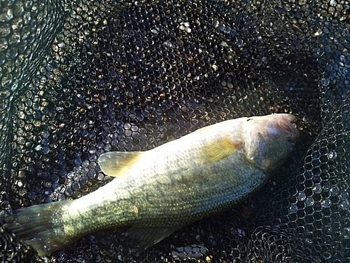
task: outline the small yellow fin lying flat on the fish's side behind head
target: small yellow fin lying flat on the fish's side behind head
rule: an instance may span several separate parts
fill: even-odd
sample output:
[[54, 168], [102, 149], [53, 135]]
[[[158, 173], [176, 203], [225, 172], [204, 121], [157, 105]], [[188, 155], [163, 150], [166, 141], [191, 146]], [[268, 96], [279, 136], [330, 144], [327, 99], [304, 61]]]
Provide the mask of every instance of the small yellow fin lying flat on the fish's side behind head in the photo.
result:
[[221, 137], [202, 148], [201, 159], [204, 164], [211, 165], [233, 154], [244, 142], [232, 139], [230, 135]]

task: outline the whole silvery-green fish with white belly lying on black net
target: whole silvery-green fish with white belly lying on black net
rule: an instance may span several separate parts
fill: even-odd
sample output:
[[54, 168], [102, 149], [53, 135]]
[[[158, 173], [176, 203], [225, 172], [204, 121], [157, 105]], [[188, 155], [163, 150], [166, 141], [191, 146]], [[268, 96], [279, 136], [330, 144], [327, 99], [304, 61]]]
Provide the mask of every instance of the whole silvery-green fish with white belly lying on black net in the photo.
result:
[[111, 182], [76, 200], [14, 210], [3, 227], [48, 255], [79, 238], [117, 227], [150, 248], [178, 229], [235, 205], [266, 184], [300, 136], [295, 116], [222, 121], [148, 151], [99, 156]]

